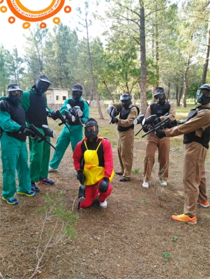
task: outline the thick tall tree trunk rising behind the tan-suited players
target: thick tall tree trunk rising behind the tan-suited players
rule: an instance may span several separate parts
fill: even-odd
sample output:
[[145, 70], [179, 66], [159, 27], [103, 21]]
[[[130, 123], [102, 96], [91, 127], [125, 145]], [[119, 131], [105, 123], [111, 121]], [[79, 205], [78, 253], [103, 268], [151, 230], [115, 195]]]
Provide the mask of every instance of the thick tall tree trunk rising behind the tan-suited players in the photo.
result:
[[145, 44], [145, 17], [144, 17], [144, 2], [140, 0], [140, 53], [141, 53], [141, 81], [140, 81], [140, 100], [141, 114], [145, 114], [147, 110], [147, 63], [146, 63], [146, 44]]

